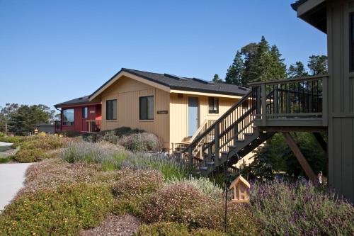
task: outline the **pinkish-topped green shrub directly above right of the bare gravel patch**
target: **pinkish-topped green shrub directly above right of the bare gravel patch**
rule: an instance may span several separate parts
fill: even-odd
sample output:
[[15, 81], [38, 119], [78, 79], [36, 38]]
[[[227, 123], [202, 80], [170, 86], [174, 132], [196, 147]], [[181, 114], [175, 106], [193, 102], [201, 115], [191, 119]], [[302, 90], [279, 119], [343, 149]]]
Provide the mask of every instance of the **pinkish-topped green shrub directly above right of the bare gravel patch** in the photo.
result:
[[116, 197], [114, 212], [140, 215], [142, 206], [152, 193], [164, 185], [164, 177], [153, 170], [123, 170], [113, 185]]

